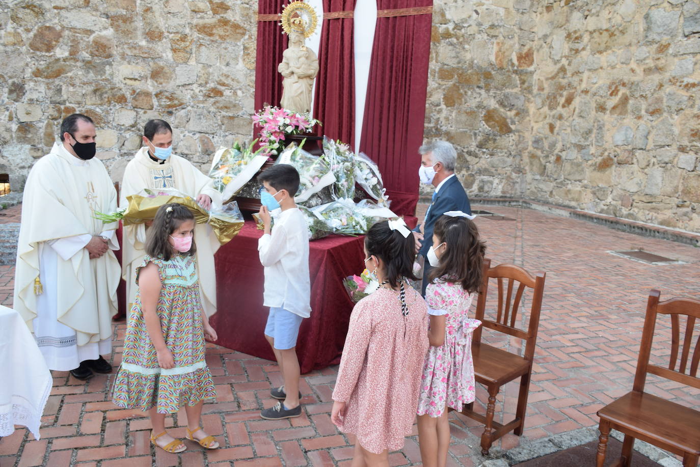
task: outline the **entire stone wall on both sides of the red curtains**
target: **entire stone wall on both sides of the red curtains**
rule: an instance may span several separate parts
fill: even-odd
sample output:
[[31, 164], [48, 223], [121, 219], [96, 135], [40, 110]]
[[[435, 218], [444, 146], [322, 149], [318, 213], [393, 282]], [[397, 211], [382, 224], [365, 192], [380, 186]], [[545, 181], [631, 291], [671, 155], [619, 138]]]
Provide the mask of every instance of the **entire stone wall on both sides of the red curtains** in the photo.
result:
[[[256, 13], [0, 0], [0, 172], [21, 189], [73, 111], [115, 180], [153, 117], [206, 169], [251, 138]], [[436, 0], [430, 54], [426, 138], [456, 144], [470, 196], [700, 230], [700, 0]]]

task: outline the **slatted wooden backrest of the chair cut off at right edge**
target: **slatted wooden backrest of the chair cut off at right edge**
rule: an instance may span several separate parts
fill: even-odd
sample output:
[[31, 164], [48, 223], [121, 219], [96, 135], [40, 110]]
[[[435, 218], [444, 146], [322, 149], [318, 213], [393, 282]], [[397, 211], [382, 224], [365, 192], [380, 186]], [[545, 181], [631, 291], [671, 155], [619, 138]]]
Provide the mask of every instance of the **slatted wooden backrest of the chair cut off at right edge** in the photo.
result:
[[[634, 391], [643, 391], [647, 373], [662, 378], [672, 379], [680, 384], [687, 384], [700, 389], [698, 365], [700, 363], [700, 333], [693, 340], [695, 323], [700, 322], [700, 300], [695, 298], [671, 298], [659, 302], [661, 293], [652, 289], [647, 300], [647, 314], [644, 319], [642, 342], [639, 347], [637, 371], [634, 375]], [[652, 365], [649, 362], [654, 330], [659, 314], [671, 319], [671, 356], [668, 367]], [[684, 322], [685, 321], [685, 322]], [[682, 326], [685, 325], [685, 326]], [[684, 337], [680, 340], [680, 329]], [[678, 355], [680, 354], [680, 359]]]

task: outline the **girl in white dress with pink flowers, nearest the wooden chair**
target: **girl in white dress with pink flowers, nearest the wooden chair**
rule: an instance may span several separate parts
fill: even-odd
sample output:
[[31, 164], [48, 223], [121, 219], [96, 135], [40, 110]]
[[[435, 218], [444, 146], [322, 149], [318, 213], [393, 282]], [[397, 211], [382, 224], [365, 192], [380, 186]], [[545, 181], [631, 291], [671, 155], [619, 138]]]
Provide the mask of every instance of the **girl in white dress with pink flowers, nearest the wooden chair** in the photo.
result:
[[449, 211], [433, 230], [427, 258], [433, 270], [426, 288], [430, 347], [421, 378], [418, 435], [425, 467], [444, 467], [449, 448], [447, 407], [458, 412], [474, 400], [472, 332], [481, 322], [468, 319], [472, 297], [482, 283], [486, 246], [473, 216]]

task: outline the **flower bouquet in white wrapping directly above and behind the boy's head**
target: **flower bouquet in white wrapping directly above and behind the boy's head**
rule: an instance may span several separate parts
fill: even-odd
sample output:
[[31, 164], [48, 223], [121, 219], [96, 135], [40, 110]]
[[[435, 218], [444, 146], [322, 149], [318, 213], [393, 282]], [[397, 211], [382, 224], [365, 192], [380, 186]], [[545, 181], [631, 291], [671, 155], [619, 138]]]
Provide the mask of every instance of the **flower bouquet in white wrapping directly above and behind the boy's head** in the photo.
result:
[[[303, 146], [303, 143], [302, 143]], [[295, 202], [304, 202], [314, 193], [329, 186], [335, 181], [335, 176], [330, 171], [325, 155], [316, 157], [304, 151], [296, 143], [291, 143], [284, 148], [275, 164], [292, 165], [299, 172], [299, 191], [295, 193]]]

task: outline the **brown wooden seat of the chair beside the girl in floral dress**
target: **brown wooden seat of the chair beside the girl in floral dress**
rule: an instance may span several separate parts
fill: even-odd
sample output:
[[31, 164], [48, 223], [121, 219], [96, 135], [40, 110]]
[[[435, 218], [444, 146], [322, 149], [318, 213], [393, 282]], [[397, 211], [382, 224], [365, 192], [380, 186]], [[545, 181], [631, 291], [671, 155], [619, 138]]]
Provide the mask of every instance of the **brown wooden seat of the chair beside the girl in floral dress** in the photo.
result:
[[509, 351], [491, 345], [475, 342], [472, 344], [474, 376], [482, 384], [505, 384], [525, 375], [530, 361]]

